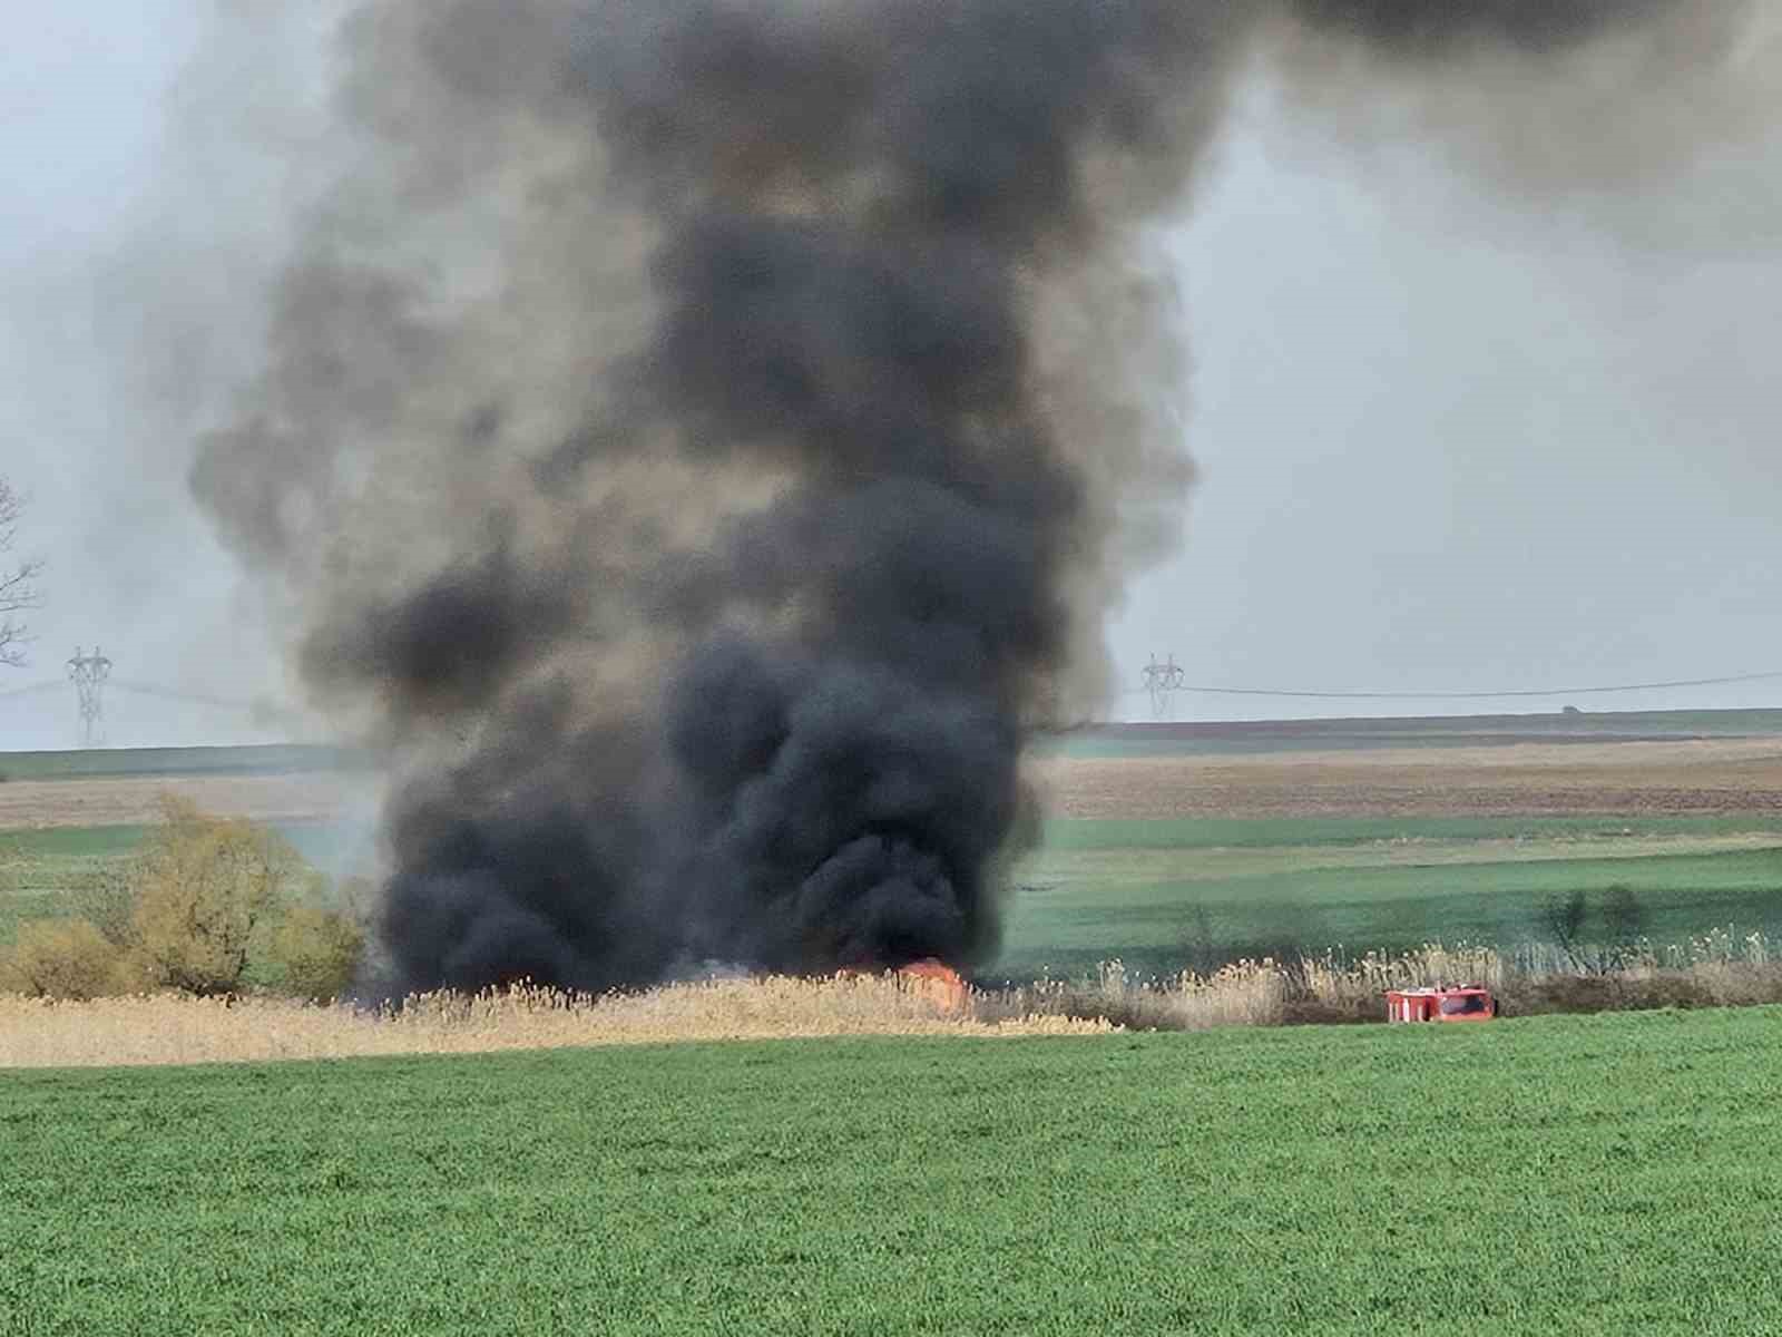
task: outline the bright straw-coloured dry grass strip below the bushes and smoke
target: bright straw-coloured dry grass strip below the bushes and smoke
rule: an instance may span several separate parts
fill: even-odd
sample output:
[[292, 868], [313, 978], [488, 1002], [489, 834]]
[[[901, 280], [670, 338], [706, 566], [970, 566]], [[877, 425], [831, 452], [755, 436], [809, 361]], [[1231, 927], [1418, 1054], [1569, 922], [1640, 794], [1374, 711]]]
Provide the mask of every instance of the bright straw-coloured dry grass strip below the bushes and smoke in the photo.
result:
[[381, 1011], [290, 998], [157, 993], [91, 1002], [0, 995], [0, 1066], [264, 1062], [822, 1036], [1078, 1036], [1064, 1014], [978, 1018], [895, 977], [666, 984], [645, 993], [428, 993]]

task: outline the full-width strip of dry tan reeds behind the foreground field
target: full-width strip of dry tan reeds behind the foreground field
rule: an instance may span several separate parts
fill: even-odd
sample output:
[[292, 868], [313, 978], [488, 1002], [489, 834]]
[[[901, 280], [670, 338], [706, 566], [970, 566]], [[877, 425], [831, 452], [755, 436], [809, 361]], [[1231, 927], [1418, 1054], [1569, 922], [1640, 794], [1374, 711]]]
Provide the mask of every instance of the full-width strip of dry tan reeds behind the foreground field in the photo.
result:
[[718, 979], [638, 993], [513, 986], [421, 993], [399, 1007], [276, 997], [153, 993], [89, 1002], [0, 995], [0, 1068], [135, 1066], [483, 1054], [825, 1036], [1083, 1036], [1383, 1020], [1381, 995], [1484, 984], [1509, 1014], [1782, 1002], [1782, 956], [1762, 934], [1720, 931], [1581, 966], [1550, 947], [1499, 954], [1429, 943], [1401, 956], [1238, 961], [1210, 975], [1137, 979], [1108, 961], [1080, 980], [959, 998], [900, 975]]

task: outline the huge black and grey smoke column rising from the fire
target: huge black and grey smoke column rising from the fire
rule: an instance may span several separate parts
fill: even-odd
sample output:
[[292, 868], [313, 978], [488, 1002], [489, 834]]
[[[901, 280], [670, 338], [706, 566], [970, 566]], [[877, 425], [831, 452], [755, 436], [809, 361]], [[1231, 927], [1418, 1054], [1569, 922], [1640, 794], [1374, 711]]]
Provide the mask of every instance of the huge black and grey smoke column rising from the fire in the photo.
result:
[[1238, 59], [1663, 7], [362, 5], [192, 485], [401, 775], [385, 984], [982, 961], [1023, 738], [1189, 480], [1142, 225]]

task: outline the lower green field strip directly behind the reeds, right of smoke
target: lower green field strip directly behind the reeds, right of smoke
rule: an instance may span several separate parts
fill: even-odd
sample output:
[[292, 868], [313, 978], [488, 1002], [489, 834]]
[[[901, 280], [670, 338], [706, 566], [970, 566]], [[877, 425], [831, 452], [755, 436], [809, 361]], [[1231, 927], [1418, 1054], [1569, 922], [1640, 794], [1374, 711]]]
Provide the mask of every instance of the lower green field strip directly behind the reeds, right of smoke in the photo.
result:
[[[1426, 941], [1513, 948], [1550, 938], [1545, 915], [1556, 902], [1584, 891], [1600, 909], [1611, 888], [1632, 895], [1639, 932], [1657, 947], [1714, 929], [1782, 934], [1782, 849], [1766, 836], [1716, 852], [1604, 857], [1586, 843], [1568, 854], [1477, 861], [1456, 850], [1392, 866], [1353, 845], [1041, 849], [1016, 868], [1001, 954], [982, 973], [1069, 977], [1119, 957], [1167, 975], [1233, 954], [1315, 956], [1336, 945], [1351, 954]], [[1584, 931], [1604, 925], [1593, 918]]]

